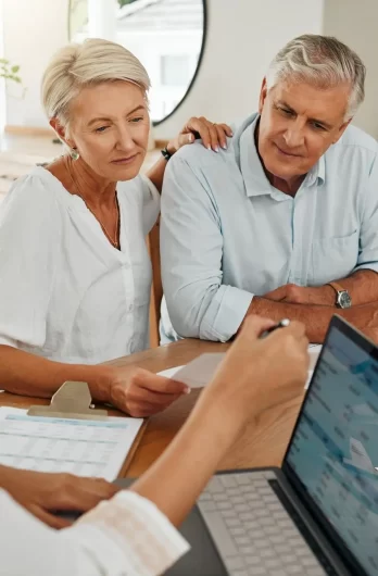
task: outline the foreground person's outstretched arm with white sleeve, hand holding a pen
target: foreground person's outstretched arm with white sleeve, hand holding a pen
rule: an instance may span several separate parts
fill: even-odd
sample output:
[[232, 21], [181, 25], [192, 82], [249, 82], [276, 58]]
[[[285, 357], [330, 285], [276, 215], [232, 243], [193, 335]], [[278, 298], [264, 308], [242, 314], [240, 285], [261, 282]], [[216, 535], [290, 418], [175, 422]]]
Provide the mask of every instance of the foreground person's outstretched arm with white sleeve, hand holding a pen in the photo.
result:
[[156, 576], [178, 560], [188, 546], [172, 524], [185, 517], [247, 422], [303, 389], [308, 364], [303, 326], [292, 324], [256, 341], [269, 325], [261, 318], [245, 323], [181, 431], [130, 491], [60, 533], [0, 493], [0, 574]]

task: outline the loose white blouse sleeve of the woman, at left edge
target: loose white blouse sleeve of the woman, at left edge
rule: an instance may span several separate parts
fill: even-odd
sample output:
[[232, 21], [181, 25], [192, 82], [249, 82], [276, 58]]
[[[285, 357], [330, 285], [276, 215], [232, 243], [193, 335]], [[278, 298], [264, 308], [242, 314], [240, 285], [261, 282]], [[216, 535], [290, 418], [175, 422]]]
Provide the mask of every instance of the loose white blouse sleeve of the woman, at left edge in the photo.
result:
[[37, 176], [17, 180], [0, 210], [0, 345], [43, 346], [60, 234], [53, 192]]

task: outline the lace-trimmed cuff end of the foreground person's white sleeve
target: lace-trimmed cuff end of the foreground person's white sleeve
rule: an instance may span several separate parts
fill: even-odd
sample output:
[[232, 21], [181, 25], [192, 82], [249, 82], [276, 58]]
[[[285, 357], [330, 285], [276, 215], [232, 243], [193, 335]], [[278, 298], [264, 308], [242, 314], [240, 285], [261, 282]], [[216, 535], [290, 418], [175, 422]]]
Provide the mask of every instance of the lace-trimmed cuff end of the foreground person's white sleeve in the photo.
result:
[[76, 541], [109, 576], [163, 574], [189, 544], [160, 510], [129, 490], [84, 515], [72, 528]]

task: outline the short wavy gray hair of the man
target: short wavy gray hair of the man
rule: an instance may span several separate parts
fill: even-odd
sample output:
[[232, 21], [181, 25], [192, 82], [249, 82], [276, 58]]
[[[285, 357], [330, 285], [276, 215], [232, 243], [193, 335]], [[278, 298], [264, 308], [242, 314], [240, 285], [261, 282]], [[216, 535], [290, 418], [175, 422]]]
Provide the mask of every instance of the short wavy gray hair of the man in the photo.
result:
[[331, 36], [305, 34], [278, 52], [269, 65], [266, 84], [270, 89], [289, 77], [323, 89], [349, 84], [351, 95], [344, 120], [350, 120], [364, 101], [365, 76], [363, 61], [348, 46]]

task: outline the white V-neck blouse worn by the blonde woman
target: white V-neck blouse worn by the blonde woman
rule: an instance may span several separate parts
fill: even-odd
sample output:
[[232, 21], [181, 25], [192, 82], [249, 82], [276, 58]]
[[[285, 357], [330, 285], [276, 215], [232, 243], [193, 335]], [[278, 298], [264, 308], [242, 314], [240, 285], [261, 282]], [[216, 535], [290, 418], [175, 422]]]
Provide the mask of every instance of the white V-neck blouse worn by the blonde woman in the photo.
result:
[[0, 343], [91, 364], [149, 346], [146, 236], [160, 196], [142, 176], [117, 184], [121, 250], [85, 202], [37, 166], [0, 210]]

